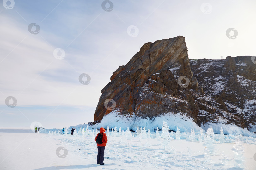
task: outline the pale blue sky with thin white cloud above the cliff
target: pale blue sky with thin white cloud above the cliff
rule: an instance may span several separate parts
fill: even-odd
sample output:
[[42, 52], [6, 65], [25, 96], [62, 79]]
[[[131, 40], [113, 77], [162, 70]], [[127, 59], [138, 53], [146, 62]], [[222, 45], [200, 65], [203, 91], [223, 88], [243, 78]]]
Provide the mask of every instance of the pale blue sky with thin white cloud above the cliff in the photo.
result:
[[[111, 0], [106, 11], [103, 2], [0, 3], [0, 128], [92, 122], [112, 73], [147, 42], [184, 36], [190, 59], [256, 55], [255, 0]], [[29, 31], [31, 23], [40, 29]], [[229, 28], [237, 37], [226, 35]], [[88, 85], [79, 82], [82, 73]], [[8, 96], [15, 107], [5, 104]]]

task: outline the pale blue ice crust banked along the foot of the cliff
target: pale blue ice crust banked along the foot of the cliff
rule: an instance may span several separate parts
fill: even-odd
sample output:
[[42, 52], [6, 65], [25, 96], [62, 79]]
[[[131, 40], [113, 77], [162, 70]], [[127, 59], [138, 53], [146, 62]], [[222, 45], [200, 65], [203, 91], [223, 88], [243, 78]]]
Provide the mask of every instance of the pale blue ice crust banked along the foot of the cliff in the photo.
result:
[[153, 119], [136, 117], [132, 116], [124, 116], [119, 114], [118, 111], [113, 110], [111, 113], [105, 115], [100, 123], [95, 124], [94, 128], [104, 127], [114, 128], [121, 127], [121, 129], [126, 129], [129, 127], [131, 130], [136, 131], [138, 128], [145, 127], [146, 129], [150, 129], [151, 132], [155, 132], [156, 129], [162, 129], [163, 121], [167, 123], [170, 131], [176, 132], [177, 128], [179, 128], [180, 132], [188, 132], [191, 133], [191, 129], [194, 132], [200, 132], [201, 130], [206, 130], [212, 127], [213, 132], [216, 134], [220, 134], [221, 128], [223, 129], [224, 134], [231, 135], [244, 135], [256, 137], [253, 134], [255, 128], [252, 128], [251, 131], [242, 129], [241, 127], [236, 126], [235, 124], [224, 124], [224, 123], [205, 123], [199, 127], [193, 120], [186, 116], [186, 113], [166, 113], [161, 116], [156, 116]]

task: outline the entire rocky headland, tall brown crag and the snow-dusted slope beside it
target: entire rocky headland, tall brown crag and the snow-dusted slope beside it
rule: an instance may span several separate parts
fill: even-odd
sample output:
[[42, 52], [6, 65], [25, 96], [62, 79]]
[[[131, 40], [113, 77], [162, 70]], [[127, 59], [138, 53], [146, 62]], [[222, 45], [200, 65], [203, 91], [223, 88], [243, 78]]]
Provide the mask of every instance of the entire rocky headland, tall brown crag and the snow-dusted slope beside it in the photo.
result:
[[252, 128], [256, 64], [251, 56], [189, 60], [182, 36], [145, 43], [102, 90], [94, 121], [112, 111], [134, 119], [181, 113], [197, 125]]

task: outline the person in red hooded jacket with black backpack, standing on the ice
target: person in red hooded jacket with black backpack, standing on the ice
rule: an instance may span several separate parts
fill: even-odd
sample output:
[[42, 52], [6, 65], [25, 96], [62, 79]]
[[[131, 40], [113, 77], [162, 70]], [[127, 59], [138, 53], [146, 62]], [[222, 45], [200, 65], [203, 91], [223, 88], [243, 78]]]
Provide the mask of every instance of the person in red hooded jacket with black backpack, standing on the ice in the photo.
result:
[[[98, 147], [97, 164], [101, 163], [101, 165], [104, 165], [104, 162], [103, 162], [104, 150], [107, 143], [107, 135], [106, 133], [104, 133], [105, 131], [106, 130], [103, 127], [100, 128], [100, 133], [102, 134], [102, 144], [97, 143], [97, 147]], [[95, 141], [100, 133], [97, 134]]]

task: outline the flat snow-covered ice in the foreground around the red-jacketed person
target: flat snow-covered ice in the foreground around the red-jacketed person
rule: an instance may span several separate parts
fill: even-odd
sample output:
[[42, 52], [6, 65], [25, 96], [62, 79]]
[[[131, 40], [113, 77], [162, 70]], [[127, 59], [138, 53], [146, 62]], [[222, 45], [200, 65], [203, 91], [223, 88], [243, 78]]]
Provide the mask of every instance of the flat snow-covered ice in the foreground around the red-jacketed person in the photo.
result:
[[256, 169], [256, 138], [212, 129], [176, 134], [166, 126], [159, 133], [106, 132], [105, 165], [96, 165], [92, 130], [0, 133], [0, 169]]

